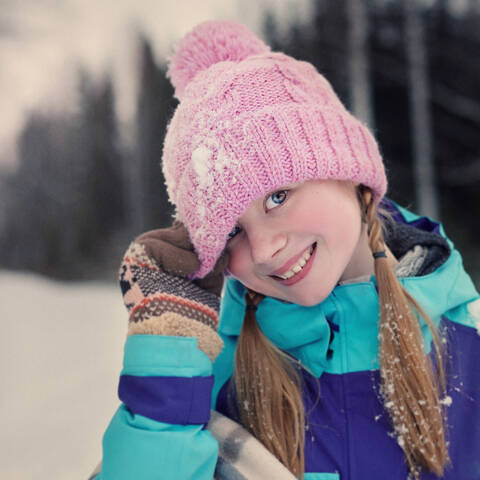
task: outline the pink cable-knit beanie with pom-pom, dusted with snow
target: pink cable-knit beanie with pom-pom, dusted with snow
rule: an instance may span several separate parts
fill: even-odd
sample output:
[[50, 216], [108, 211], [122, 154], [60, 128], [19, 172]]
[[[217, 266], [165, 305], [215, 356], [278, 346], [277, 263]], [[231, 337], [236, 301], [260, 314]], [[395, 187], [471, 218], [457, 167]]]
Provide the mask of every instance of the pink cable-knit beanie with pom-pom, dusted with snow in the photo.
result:
[[289, 183], [351, 180], [378, 202], [387, 180], [368, 128], [307, 62], [271, 52], [232, 21], [198, 25], [178, 44], [168, 76], [180, 104], [163, 172], [176, 217], [200, 259], [215, 265], [251, 202]]

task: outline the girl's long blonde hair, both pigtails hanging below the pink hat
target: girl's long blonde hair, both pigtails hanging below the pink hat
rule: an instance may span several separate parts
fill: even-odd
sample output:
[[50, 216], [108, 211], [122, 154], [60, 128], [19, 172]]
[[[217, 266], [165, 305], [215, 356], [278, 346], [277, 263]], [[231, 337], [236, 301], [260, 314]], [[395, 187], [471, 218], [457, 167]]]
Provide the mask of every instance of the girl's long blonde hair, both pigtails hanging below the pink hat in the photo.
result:
[[[385, 251], [382, 221], [370, 189], [357, 189], [373, 252]], [[409, 470], [438, 476], [449, 462], [445, 431], [445, 374], [435, 325], [396, 278], [387, 258], [375, 258], [380, 304], [381, 394]], [[240, 420], [295, 476], [303, 480], [306, 414], [298, 362], [263, 334], [255, 310], [263, 295], [247, 291], [247, 309], [235, 353], [233, 386]], [[419, 322], [433, 338], [437, 370], [424, 352]]]

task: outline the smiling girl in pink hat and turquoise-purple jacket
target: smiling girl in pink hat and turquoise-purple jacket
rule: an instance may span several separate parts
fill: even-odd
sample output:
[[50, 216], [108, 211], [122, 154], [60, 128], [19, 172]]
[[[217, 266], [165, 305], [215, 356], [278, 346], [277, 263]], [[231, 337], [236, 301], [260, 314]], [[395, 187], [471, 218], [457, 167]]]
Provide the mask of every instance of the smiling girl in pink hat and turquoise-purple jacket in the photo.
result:
[[176, 221], [120, 269], [95, 478], [480, 478], [479, 294], [441, 225], [384, 197], [369, 130], [234, 22], [195, 28], [169, 76]]

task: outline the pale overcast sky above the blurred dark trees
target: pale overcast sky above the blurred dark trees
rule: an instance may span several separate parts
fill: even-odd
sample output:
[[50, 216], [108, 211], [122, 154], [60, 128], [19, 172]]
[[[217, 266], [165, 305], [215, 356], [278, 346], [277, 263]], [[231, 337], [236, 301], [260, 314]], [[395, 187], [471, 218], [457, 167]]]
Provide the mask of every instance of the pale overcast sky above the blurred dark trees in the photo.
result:
[[308, 16], [308, 0], [0, 0], [0, 166], [14, 159], [14, 139], [31, 108], [71, 104], [76, 67], [112, 71], [122, 121], [133, 112], [136, 32], [157, 57], [197, 23], [235, 19], [259, 33], [260, 13]]

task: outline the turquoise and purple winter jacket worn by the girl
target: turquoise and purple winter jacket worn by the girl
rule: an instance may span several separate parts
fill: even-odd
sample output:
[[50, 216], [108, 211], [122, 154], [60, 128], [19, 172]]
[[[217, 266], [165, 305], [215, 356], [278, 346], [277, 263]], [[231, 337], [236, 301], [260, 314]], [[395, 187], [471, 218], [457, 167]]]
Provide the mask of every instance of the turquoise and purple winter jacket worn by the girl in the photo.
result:
[[[439, 223], [388, 200], [384, 207], [395, 220], [386, 242], [402, 259], [397, 276], [438, 326], [446, 346], [444, 402], [452, 463], [442, 478], [480, 479], [479, 294]], [[213, 365], [195, 338], [128, 337], [121, 375], [137, 379], [135, 395], [120, 395], [123, 403], [105, 432], [96, 480], [248, 478], [217, 461], [219, 441], [206, 428], [210, 407], [238, 419], [229, 407], [228, 384], [244, 294], [240, 282], [227, 279], [219, 326], [225, 346]], [[374, 276], [337, 285], [313, 307], [269, 297], [258, 306], [262, 331], [304, 367], [306, 480], [407, 478], [379, 393], [378, 310]], [[431, 334], [423, 321], [421, 326], [430, 352]], [[230, 433], [223, 440], [234, 445], [234, 430]], [[225, 445], [220, 449], [220, 458], [228, 457]], [[438, 477], [424, 473], [421, 478]]]

